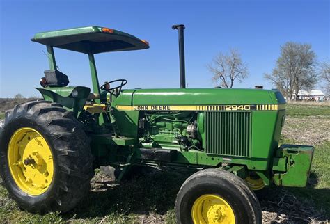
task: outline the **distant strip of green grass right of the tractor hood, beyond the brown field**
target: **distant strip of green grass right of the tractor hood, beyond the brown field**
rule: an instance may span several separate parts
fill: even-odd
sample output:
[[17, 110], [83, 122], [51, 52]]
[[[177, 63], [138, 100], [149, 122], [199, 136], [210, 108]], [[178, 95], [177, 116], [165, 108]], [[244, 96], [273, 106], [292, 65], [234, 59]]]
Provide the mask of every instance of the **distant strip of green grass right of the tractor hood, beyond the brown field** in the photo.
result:
[[[329, 104], [328, 104], [329, 105]], [[315, 104], [286, 104], [286, 114], [292, 117], [306, 117], [306, 116], [329, 116], [330, 106], [315, 106]]]

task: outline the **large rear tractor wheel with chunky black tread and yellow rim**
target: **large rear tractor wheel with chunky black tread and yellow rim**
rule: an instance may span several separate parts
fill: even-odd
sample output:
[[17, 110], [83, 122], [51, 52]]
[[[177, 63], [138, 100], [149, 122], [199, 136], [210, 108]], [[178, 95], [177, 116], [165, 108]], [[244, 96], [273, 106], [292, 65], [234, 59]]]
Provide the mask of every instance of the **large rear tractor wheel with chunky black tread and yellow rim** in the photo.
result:
[[73, 113], [60, 104], [15, 106], [0, 130], [3, 183], [23, 209], [69, 211], [84, 198], [93, 177], [90, 141]]

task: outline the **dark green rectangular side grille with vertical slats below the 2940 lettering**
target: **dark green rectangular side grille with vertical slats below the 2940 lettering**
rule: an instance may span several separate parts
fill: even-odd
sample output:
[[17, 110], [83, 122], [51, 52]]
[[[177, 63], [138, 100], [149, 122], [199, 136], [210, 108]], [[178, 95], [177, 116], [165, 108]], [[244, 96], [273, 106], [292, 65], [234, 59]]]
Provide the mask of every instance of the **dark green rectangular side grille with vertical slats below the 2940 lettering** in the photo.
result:
[[250, 157], [251, 111], [205, 111], [205, 152]]

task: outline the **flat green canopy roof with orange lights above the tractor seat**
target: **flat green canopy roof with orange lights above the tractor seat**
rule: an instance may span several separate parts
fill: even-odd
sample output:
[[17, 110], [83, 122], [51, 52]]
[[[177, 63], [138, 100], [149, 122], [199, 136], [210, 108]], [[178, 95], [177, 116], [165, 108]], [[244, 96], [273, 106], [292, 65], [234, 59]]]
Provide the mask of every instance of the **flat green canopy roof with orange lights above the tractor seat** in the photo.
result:
[[100, 26], [85, 26], [36, 33], [31, 40], [33, 42], [39, 42], [42, 45], [78, 51], [85, 54], [149, 48], [146, 40], [141, 40], [134, 37], [134, 35]]

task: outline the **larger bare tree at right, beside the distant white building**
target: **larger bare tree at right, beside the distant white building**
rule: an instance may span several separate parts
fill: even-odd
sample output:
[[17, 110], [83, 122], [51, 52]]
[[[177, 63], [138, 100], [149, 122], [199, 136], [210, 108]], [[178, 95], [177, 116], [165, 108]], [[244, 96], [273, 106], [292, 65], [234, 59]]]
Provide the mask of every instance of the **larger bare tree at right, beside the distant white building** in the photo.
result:
[[311, 90], [317, 82], [316, 55], [309, 44], [286, 42], [276, 60], [272, 74], [265, 79], [273, 83], [290, 100], [297, 99], [299, 90]]

